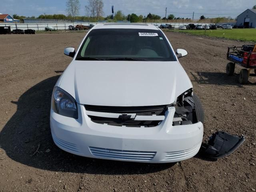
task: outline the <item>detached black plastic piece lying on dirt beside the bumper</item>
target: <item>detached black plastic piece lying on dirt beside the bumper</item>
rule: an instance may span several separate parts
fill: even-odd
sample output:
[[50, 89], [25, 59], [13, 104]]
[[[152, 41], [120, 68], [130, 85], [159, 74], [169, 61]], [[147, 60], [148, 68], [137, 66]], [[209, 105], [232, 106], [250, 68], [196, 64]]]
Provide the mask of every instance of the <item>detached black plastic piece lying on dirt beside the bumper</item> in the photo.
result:
[[223, 131], [214, 133], [209, 139], [208, 143], [203, 143], [200, 148], [200, 153], [208, 158], [229, 156], [245, 141], [244, 136], [238, 137]]

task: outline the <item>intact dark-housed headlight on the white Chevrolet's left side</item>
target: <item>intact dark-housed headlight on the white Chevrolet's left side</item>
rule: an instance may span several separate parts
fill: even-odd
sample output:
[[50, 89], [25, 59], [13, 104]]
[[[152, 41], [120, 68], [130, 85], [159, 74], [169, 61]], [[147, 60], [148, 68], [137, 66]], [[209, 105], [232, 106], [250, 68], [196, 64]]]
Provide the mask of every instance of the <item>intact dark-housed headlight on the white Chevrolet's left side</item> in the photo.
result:
[[57, 114], [75, 119], [78, 118], [76, 100], [74, 100], [70, 94], [59, 87], [55, 87], [53, 89], [52, 109]]

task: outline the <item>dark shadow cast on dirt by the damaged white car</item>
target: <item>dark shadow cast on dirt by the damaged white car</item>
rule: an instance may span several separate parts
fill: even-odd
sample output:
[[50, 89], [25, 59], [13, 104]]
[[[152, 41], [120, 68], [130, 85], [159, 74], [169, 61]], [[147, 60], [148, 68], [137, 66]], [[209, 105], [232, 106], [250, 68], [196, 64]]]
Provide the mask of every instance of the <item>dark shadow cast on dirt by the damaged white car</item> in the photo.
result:
[[58, 148], [50, 132], [52, 89], [59, 76], [43, 80], [17, 102], [15, 114], [0, 132], [0, 147], [12, 160], [42, 170], [88, 174], [145, 174], [174, 164], [119, 162], [76, 156]]

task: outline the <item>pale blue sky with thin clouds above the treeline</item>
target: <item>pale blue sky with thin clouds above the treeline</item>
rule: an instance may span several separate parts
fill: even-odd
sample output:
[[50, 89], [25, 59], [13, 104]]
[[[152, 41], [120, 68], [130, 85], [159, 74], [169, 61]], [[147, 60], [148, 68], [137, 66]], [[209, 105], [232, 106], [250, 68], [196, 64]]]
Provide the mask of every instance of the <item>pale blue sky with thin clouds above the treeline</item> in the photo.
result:
[[[40, 14], [66, 14], [66, 0], [0, 0], [0, 13], [18, 14], [23, 16], [39, 16]], [[80, 0], [80, 15], [87, 15], [84, 6], [88, 0]], [[111, 6], [115, 10], [122, 10], [124, 14], [135, 13], [146, 16], [149, 12], [165, 16], [174, 14], [176, 17], [199, 18], [231, 16], [235, 18], [247, 8], [256, 4], [255, 0], [103, 0], [104, 15], [111, 14]]]

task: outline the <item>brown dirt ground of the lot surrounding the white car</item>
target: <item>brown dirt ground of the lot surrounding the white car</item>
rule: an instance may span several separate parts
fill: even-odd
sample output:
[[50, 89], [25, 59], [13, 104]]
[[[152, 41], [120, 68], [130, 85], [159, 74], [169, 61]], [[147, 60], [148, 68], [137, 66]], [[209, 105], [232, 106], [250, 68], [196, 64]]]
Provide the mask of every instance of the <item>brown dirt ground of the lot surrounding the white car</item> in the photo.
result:
[[[54, 145], [49, 112], [52, 88], [84, 33], [0, 35], [0, 191], [255, 191], [256, 75], [238, 83], [226, 76], [227, 46], [244, 42], [166, 32], [200, 97], [205, 139], [217, 130], [244, 135], [232, 155], [195, 156], [177, 164], [140, 164], [75, 156]], [[38, 152], [34, 152], [38, 149]]]

